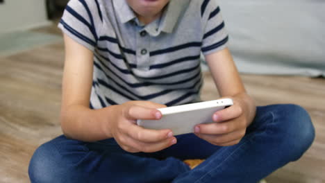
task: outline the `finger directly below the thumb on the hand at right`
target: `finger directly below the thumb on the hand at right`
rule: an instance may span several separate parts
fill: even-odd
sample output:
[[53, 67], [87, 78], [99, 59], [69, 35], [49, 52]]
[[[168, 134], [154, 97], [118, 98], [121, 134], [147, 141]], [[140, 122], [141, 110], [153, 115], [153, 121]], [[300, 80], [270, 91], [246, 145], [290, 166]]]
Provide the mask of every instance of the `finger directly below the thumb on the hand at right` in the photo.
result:
[[240, 121], [240, 119], [235, 119], [222, 123], [213, 122], [196, 125], [194, 127], [194, 132], [200, 134], [228, 134], [243, 128], [246, 128], [244, 121]]

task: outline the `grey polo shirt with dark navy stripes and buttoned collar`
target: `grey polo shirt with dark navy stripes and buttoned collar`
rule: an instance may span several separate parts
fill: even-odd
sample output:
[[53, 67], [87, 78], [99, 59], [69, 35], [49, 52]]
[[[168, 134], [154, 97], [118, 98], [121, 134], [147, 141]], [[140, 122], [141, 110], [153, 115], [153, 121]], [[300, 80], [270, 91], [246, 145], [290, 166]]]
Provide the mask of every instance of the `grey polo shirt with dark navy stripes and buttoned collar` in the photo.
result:
[[228, 41], [216, 0], [170, 0], [147, 25], [126, 0], [70, 0], [58, 27], [94, 53], [93, 109], [199, 101], [200, 54], [225, 49]]

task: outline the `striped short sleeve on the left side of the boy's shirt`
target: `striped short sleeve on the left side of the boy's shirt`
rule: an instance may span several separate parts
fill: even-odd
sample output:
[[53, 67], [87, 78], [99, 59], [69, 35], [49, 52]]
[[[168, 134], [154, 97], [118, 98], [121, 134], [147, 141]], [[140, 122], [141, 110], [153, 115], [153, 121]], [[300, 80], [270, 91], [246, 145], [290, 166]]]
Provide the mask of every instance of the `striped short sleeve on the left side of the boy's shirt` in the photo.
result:
[[97, 45], [97, 32], [101, 25], [100, 9], [97, 0], [70, 0], [58, 28], [73, 40], [94, 51]]

